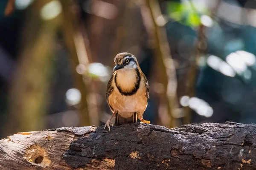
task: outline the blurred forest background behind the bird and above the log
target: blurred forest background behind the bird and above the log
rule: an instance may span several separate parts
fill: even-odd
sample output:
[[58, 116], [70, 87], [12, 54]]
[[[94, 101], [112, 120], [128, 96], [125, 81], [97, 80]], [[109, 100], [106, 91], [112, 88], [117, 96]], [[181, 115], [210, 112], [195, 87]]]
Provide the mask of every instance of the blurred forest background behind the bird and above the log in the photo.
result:
[[148, 78], [144, 119], [256, 122], [256, 0], [1, 0], [0, 138], [104, 125], [120, 52]]

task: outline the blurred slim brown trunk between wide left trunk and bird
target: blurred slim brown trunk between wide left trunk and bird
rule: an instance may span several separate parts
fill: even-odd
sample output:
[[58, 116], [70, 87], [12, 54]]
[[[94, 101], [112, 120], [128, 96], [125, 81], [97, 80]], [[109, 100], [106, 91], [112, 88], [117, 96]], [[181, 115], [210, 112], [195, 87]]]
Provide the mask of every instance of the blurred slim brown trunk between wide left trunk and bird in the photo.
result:
[[[72, 10], [76, 8], [76, 5], [71, 0], [61, 0], [60, 2], [63, 7], [61, 28], [64, 31], [65, 42], [71, 57], [70, 63], [73, 68], [76, 88], [81, 92], [81, 102], [79, 104], [80, 126], [99, 125], [97, 107], [89, 106], [90, 102], [87, 103], [91, 83], [86, 74], [89, 65], [88, 48], [86, 48], [83, 35], [79, 29], [78, 16]], [[77, 69], [80, 69], [80, 74], [76, 71]], [[93, 113], [90, 113], [91, 110], [93, 110]]]

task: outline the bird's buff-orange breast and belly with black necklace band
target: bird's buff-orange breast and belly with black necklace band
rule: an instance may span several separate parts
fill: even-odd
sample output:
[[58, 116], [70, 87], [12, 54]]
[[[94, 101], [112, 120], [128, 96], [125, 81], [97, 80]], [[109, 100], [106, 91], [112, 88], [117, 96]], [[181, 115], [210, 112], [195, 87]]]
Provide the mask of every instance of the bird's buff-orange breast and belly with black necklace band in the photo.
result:
[[147, 107], [145, 83], [138, 69], [119, 70], [112, 80], [108, 102], [115, 111], [144, 112]]

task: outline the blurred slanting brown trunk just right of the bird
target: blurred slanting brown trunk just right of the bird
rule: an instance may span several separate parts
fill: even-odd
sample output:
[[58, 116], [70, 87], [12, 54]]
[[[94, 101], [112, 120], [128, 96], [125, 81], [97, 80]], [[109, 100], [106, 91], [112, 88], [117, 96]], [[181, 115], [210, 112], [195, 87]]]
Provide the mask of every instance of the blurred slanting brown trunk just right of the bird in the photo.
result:
[[[156, 82], [164, 86], [163, 92], [160, 94], [160, 107], [167, 106], [160, 112], [167, 110], [169, 114], [169, 124], [163, 124], [166, 127], [177, 127], [177, 79], [175, 66], [170, 55], [169, 44], [167, 41], [166, 30], [164, 28], [165, 23], [159, 22], [159, 18], [163, 17], [160, 11], [160, 6], [157, 0], [147, 0], [146, 6], [148, 7], [151, 20], [153, 20], [153, 26], [151, 30], [151, 38], [153, 40], [154, 56], [154, 77]], [[164, 19], [163, 19], [164, 20]], [[162, 22], [163, 22], [162, 20]], [[161, 114], [161, 113], [160, 113]], [[161, 115], [168, 119], [167, 115]]]

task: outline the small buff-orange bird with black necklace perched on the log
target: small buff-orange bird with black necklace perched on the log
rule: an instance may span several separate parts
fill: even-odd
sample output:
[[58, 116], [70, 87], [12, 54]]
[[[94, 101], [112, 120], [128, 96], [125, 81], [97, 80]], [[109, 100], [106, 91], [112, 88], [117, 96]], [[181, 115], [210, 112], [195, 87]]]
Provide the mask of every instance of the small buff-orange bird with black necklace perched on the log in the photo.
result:
[[108, 82], [106, 100], [112, 111], [112, 116], [105, 127], [113, 127], [111, 119], [115, 116], [115, 125], [135, 123], [150, 123], [143, 119], [143, 113], [148, 105], [149, 85], [145, 74], [140, 69], [136, 57], [128, 52], [116, 55], [113, 74]]

